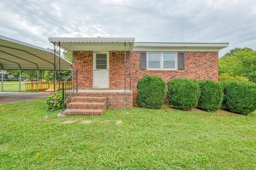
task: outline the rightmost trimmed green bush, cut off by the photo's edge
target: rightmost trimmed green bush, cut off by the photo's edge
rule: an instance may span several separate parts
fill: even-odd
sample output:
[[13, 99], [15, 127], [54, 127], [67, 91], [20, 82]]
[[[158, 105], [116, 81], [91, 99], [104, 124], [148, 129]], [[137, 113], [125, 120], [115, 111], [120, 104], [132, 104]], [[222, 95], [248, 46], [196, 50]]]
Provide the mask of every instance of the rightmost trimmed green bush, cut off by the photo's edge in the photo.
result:
[[234, 113], [247, 115], [256, 109], [256, 85], [239, 81], [222, 81], [222, 106]]

